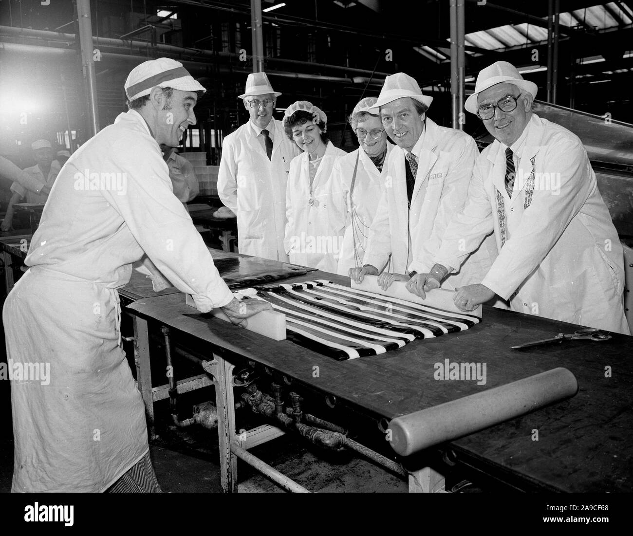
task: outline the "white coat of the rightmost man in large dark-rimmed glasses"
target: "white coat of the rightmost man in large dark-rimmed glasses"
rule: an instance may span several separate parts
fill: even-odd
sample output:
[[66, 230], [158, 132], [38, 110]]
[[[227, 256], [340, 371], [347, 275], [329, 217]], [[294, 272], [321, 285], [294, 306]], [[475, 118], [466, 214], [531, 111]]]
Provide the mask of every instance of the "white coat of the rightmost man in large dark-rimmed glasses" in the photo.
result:
[[[526, 128], [511, 199], [505, 153], [495, 141], [477, 159], [468, 203], [451, 222], [435, 261], [459, 266], [494, 229], [499, 256], [481, 283], [510, 299], [511, 309], [629, 334], [622, 246], [587, 151], [572, 132], [536, 114]], [[533, 170], [531, 203], [523, 208]]]

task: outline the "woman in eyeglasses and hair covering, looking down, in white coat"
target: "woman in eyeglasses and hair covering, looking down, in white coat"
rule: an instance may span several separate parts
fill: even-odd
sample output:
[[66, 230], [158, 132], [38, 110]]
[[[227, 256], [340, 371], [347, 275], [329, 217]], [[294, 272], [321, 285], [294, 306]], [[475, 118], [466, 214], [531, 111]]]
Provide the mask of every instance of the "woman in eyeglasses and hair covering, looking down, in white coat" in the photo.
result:
[[356, 104], [349, 116], [360, 147], [346, 154], [334, 165], [332, 175], [342, 184], [347, 219], [337, 273], [349, 275], [349, 268], [363, 266], [369, 227], [376, 214], [387, 173], [387, 156], [393, 147], [387, 142], [379, 116], [368, 109], [376, 97], [367, 97]]

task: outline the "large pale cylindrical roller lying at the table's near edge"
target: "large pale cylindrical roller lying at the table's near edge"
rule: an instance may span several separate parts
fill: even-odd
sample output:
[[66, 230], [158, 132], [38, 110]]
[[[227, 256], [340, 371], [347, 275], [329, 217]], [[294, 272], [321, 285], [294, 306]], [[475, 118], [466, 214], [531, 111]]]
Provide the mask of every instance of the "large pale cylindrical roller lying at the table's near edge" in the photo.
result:
[[391, 446], [401, 456], [409, 456], [572, 397], [577, 391], [578, 382], [566, 368], [548, 370], [396, 417], [389, 423]]

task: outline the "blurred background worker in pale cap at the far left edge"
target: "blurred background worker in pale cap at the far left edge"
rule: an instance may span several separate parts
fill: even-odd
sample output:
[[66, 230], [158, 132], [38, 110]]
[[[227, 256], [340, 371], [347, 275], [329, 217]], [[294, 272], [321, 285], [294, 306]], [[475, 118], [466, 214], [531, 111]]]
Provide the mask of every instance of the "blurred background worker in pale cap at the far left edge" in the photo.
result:
[[13, 228], [13, 214], [15, 213], [13, 204], [20, 203], [24, 197], [26, 197], [26, 203], [46, 203], [51, 187], [60, 172], [60, 164], [54, 160], [55, 155], [51, 142], [43, 139], [37, 140], [31, 144], [31, 149], [33, 149], [33, 158], [37, 163], [30, 168], [25, 168], [24, 172], [30, 175], [35, 183], [40, 185], [39, 194], [28, 190], [18, 182], [14, 182], [11, 185], [13, 196], [11, 196], [11, 201], [9, 201], [0, 230], [8, 231]]

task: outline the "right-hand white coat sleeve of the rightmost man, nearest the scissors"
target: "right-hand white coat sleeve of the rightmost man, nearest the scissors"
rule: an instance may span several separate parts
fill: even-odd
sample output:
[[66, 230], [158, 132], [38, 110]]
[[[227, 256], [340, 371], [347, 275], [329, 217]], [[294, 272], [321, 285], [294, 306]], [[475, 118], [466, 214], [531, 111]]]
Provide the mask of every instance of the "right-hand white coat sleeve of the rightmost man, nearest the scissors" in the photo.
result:
[[560, 173], [560, 190], [534, 188], [532, 203], [482, 281], [503, 299], [508, 299], [541, 263], [596, 188], [580, 140], [565, 137], [540, 150], [545, 151], [542, 169]]

